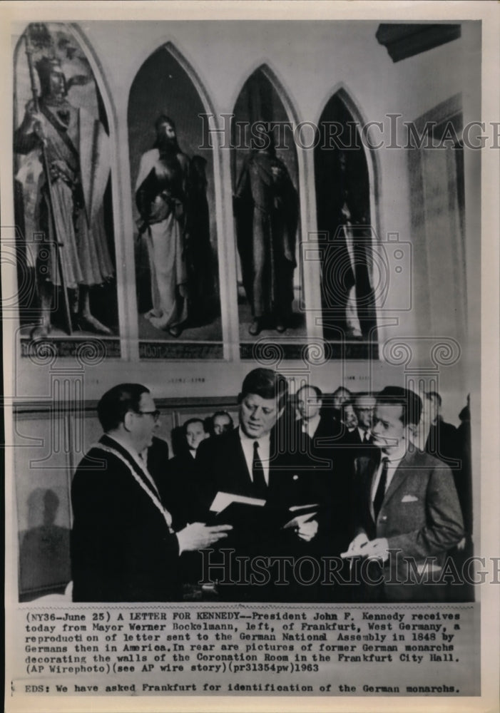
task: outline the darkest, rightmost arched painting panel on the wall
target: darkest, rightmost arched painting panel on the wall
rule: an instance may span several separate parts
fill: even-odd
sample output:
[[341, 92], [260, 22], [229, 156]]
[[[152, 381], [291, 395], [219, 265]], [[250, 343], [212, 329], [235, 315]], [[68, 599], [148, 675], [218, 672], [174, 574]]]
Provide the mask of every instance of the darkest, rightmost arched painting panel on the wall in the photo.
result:
[[318, 123], [317, 230], [322, 256], [322, 326], [329, 341], [377, 340], [375, 305], [384, 275], [380, 275], [372, 227], [374, 165], [359, 133], [362, 124], [343, 88], [327, 101]]

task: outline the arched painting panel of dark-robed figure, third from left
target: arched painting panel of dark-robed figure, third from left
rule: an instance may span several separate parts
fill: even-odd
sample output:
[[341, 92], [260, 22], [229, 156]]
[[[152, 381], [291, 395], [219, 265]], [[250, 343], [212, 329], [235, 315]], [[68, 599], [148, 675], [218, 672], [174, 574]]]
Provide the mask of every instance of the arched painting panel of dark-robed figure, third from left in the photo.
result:
[[[272, 168], [275, 175], [287, 175], [286, 180], [290, 180], [290, 190], [286, 190], [282, 195], [277, 196], [277, 201], [283, 201], [285, 209], [282, 211], [285, 219], [281, 217], [279, 220], [282, 223], [279, 230], [282, 230], [283, 221], [286, 222], [286, 215], [295, 214], [296, 221], [290, 222], [288, 230], [289, 239], [285, 245], [288, 251], [288, 258], [293, 258], [294, 267], [290, 267], [291, 261], [287, 260], [285, 271], [280, 274], [279, 270], [275, 275], [275, 282], [287, 281], [291, 289], [288, 290], [291, 299], [291, 309], [285, 315], [282, 327], [286, 327], [286, 337], [305, 337], [305, 316], [301, 312], [303, 304], [302, 296], [302, 266], [300, 265], [300, 250], [299, 250], [299, 235], [300, 235], [300, 208], [299, 208], [299, 160], [297, 157], [297, 149], [293, 138], [293, 128], [297, 123], [295, 112], [292, 109], [292, 103], [288, 98], [285, 89], [280, 81], [276, 78], [272, 70], [263, 64], [253, 71], [248, 79], [243, 84], [238, 98], [235, 101], [233, 108], [233, 121], [231, 125], [231, 173], [233, 180], [233, 193], [235, 194], [235, 228], [236, 240], [238, 247], [238, 317], [240, 322], [240, 342], [255, 341], [257, 334], [249, 332], [252, 322], [255, 319], [255, 313], [258, 309], [256, 306], [255, 289], [259, 289], [255, 285], [255, 245], [256, 240], [262, 241], [260, 248], [269, 250], [270, 231], [263, 227], [263, 235], [256, 236], [254, 214], [252, 214], [252, 206], [255, 206], [255, 195], [252, 195], [253, 188], [250, 189], [250, 180], [248, 173], [248, 165], [252, 162], [253, 157], [263, 148], [267, 150], [268, 142], [262, 136], [265, 131], [270, 130], [275, 143], [275, 158], [281, 164]], [[271, 173], [268, 174], [267, 180], [269, 185], [272, 185]], [[278, 178], [280, 180], [280, 178]], [[256, 189], [258, 190], [258, 189]], [[279, 189], [277, 189], [279, 191]], [[270, 193], [265, 189], [264, 200], [270, 199]], [[273, 199], [274, 200], [274, 199]], [[245, 205], [243, 205], [245, 201]], [[243, 210], [242, 210], [243, 205]], [[257, 213], [255, 212], [255, 215]], [[270, 214], [269, 214], [270, 215]], [[265, 220], [274, 220], [266, 217]], [[294, 222], [296, 223], [295, 227]], [[243, 225], [243, 230], [242, 230]], [[250, 230], [245, 230], [245, 227], [250, 225]], [[262, 229], [262, 225], [257, 229], [257, 232]], [[294, 232], [291, 237], [291, 232]], [[257, 247], [257, 250], [259, 248]], [[282, 251], [283, 245], [277, 246], [277, 251]], [[270, 272], [270, 267], [267, 264], [271, 260], [267, 260], [264, 270]], [[290, 272], [292, 273], [290, 275]], [[271, 287], [264, 287], [270, 292]], [[277, 297], [276, 300], [282, 299]], [[282, 311], [287, 311], [287, 307], [272, 309], [272, 299], [265, 299], [264, 302], [269, 302], [270, 306], [267, 312], [263, 315], [262, 329], [258, 334], [262, 333], [263, 337], [272, 337], [279, 339], [280, 331], [276, 331], [276, 327], [280, 326]], [[282, 302], [288, 302], [285, 297]], [[242, 349], [242, 356], [250, 355], [250, 352]]]

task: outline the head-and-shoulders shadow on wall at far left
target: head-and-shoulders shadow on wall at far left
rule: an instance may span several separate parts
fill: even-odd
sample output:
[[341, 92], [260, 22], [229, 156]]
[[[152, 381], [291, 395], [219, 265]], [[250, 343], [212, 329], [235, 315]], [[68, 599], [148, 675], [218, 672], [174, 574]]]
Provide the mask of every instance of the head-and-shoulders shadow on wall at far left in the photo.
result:
[[58, 508], [59, 498], [53, 490], [36, 488], [29, 495], [29, 528], [19, 533], [21, 602], [63, 593], [71, 579], [69, 530], [54, 524]]

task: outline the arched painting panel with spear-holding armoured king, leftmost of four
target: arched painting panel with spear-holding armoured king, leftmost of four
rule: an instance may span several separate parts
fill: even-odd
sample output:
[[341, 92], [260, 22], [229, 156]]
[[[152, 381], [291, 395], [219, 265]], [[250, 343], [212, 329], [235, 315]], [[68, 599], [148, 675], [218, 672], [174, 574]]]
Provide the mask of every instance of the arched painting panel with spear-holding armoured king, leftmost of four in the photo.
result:
[[[29, 35], [31, 49], [32, 73], [30, 74], [28, 55], [26, 53], [26, 36]], [[93, 56], [88, 43], [81, 36], [76, 26], [64, 23], [31, 24], [19, 36], [14, 48], [14, 212], [16, 217], [18, 279], [20, 284], [32, 285], [33, 289], [23, 291], [19, 302], [21, 341], [31, 342], [30, 334], [33, 327], [41, 319], [43, 310], [40, 304], [40, 285], [46, 279], [44, 272], [47, 240], [47, 225], [50, 219], [50, 208], [46, 219], [41, 217], [41, 205], [44, 202], [42, 186], [46, 185], [44, 174], [44, 156], [40, 145], [30, 145], [30, 138], [20, 139], [20, 128], [23, 123], [26, 105], [33, 101], [36, 93], [41, 105], [44, 103], [37, 63], [43, 58], [51, 58], [59, 63], [64, 76], [65, 99], [74, 111], [69, 128], [59, 127], [60, 144], [69, 146], [76, 156], [78, 166], [72, 177], [72, 196], [61, 210], [75, 230], [76, 250], [71, 257], [67, 227], [59, 228], [58, 241], [61, 243], [59, 252], [61, 262], [71, 267], [59, 267], [55, 278], [53, 295], [50, 305], [51, 330], [49, 338], [61, 356], [73, 354], [74, 349], [66, 342], [70, 329], [73, 339], [88, 339], [98, 335], [106, 345], [108, 356], [119, 355], [118, 337], [118, 299], [116, 290], [116, 249], [115, 221], [113, 220], [113, 178], [114, 164], [111, 141], [114, 137], [113, 106], [106, 83], [101, 74], [98, 62]], [[75, 111], [76, 110], [76, 111]], [[57, 131], [57, 129], [56, 129]], [[65, 134], [67, 136], [65, 136]], [[33, 133], [31, 132], [31, 135]], [[54, 134], [56, 137], [56, 134]], [[55, 142], [58, 139], [55, 138]], [[31, 141], [33, 143], [33, 141]], [[72, 144], [72, 148], [71, 148]], [[49, 145], [49, 142], [48, 142]], [[54, 158], [63, 158], [50, 148], [46, 149], [48, 169]], [[45, 189], [46, 190], [46, 189]], [[48, 202], [50, 205], [50, 203]], [[85, 215], [85, 218], [76, 216]], [[86, 230], [82, 237], [81, 222]], [[88, 231], [88, 234], [87, 234]], [[71, 230], [70, 230], [71, 232]], [[51, 235], [49, 235], [51, 240]], [[75, 257], [76, 254], [76, 257]], [[78, 262], [81, 275], [75, 270]], [[49, 265], [49, 277], [52, 282], [51, 268], [56, 272], [54, 260]], [[96, 270], [98, 265], [98, 270]], [[68, 313], [64, 308], [63, 289], [60, 273], [66, 273], [65, 282], [68, 286]], [[70, 275], [68, 279], [68, 273]], [[73, 275], [73, 277], [71, 277]], [[86, 302], [93, 317], [109, 329], [103, 334], [96, 325], [85, 322], [78, 316], [80, 305]], [[43, 319], [43, 317], [42, 317]], [[113, 339], [115, 337], [115, 339]], [[30, 349], [24, 349], [26, 354]]]

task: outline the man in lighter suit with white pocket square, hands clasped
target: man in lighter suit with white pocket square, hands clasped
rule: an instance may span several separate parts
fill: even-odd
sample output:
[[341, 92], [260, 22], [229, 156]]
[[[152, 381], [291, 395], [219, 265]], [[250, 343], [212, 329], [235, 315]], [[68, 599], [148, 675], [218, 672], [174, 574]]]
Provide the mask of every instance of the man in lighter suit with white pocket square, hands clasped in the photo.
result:
[[417, 394], [387, 386], [372, 429], [381, 452], [355, 462], [356, 535], [345, 556], [383, 563], [379, 578], [373, 569], [369, 575], [379, 586], [365, 586], [364, 598], [442, 600], [445, 586], [431, 580], [439, 580], [447, 551], [464, 535], [451, 471], [409, 440], [421, 412]]

